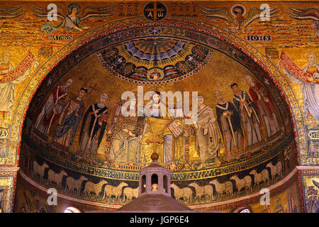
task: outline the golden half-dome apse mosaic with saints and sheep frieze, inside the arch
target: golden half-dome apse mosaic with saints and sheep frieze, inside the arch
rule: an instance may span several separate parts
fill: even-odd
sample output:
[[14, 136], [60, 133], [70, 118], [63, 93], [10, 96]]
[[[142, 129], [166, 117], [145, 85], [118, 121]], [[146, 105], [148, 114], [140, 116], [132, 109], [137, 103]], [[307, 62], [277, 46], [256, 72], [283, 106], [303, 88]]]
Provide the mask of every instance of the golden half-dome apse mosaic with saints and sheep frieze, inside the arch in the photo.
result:
[[[172, 26], [174, 33], [157, 26], [162, 33], [155, 39], [145, 38], [154, 35], [148, 33], [149, 24], [140, 23], [130, 28], [134, 41], [127, 41], [131, 33], [125, 28], [118, 29], [52, 68], [35, 93], [38, 101], [30, 103], [31, 123], [23, 133], [23, 150], [38, 155], [28, 159], [30, 177], [82, 199], [123, 204], [122, 191], [136, 190], [138, 170], [156, 150], [159, 163], [173, 172], [174, 192], [192, 188], [192, 197], [183, 201], [196, 204], [257, 192], [296, 165], [290, 113], [281, 107], [286, 101], [272, 77], [218, 37]], [[194, 37], [201, 42], [194, 45], [189, 41]], [[183, 77], [191, 70], [191, 77]], [[139, 84], [144, 85], [142, 93]], [[136, 94], [134, 99], [122, 99], [126, 91]], [[201, 111], [192, 113], [198, 115], [197, 123], [185, 123], [189, 116], [177, 100], [171, 106], [161, 100], [161, 92], [178, 91], [198, 92], [194, 104]], [[142, 106], [137, 101], [145, 92], [152, 92], [151, 104], [159, 99], [172, 115], [123, 116], [125, 103], [134, 113], [147, 109], [150, 100], [144, 98]], [[242, 180], [247, 181], [243, 186]], [[98, 191], [86, 193], [89, 184]], [[227, 189], [220, 191], [224, 185]], [[217, 194], [199, 196], [201, 187]], [[112, 196], [108, 189], [121, 193]]]

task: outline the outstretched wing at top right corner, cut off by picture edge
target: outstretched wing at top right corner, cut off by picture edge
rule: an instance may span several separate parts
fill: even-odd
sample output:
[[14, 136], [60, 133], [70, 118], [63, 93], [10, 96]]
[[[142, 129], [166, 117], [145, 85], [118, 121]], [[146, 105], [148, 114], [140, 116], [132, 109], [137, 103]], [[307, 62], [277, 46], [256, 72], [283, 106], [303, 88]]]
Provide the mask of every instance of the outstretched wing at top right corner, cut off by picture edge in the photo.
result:
[[306, 21], [313, 21], [313, 28], [315, 30], [315, 35], [319, 35], [319, 10], [315, 8], [307, 8], [307, 9], [296, 9], [289, 7], [288, 13], [291, 15], [291, 18]]

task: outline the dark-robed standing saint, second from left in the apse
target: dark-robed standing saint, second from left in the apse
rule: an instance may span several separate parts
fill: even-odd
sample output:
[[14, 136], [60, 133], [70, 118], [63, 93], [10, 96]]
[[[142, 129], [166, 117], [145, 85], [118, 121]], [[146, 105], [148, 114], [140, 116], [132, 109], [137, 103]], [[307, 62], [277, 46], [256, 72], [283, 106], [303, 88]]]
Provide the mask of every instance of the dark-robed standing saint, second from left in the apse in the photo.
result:
[[84, 112], [84, 102], [82, 98], [86, 93], [87, 89], [82, 87], [79, 90], [79, 95], [70, 99], [61, 112], [53, 141], [64, 151], [69, 150], [69, 147], [73, 143], [75, 131], [77, 131], [77, 126]]

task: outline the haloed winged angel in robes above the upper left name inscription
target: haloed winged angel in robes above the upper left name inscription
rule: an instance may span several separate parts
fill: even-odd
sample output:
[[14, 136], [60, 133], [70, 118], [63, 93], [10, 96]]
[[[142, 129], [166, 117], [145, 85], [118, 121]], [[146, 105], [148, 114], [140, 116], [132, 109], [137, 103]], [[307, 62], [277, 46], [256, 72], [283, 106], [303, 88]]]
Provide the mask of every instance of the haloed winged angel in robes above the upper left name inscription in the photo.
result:
[[[48, 15], [52, 16], [50, 9], [45, 9], [39, 6], [32, 6], [32, 9], [35, 13], [34, 16], [47, 18]], [[57, 31], [62, 26], [65, 26], [65, 30], [77, 32], [83, 31], [89, 27], [83, 25], [84, 20], [91, 17], [105, 17], [113, 16], [113, 6], [86, 6], [83, 11], [81, 11], [81, 6], [79, 4], [69, 4], [67, 6], [67, 12], [63, 9], [62, 6], [57, 6], [57, 13], [53, 14], [57, 19], [62, 19], [62, 22], [58, 26], [53, 26], [52, 23], [46, 22], [41, 26], [41, 31], [43, 35], [47, 33], [50, 35], [53, 31]]]

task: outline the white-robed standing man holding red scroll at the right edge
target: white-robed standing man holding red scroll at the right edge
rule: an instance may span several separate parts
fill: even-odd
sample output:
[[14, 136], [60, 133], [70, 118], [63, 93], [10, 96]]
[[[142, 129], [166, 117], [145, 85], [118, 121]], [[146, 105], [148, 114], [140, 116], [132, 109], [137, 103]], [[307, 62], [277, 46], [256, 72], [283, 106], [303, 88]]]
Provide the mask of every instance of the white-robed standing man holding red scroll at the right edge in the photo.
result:
[[[283, 53], [281, 53], [281, 58], [282, 56]], [[301, 84], [301, 92], [303, 94], [303, 112], [305, 118], [307, 120], [312, 120], [311, 117], [313, 117], [315, 121], [319, 121], [319, 64], [317, 63], [313, 52], [308, 52], [306, 57], [308, 64], [303, 68], [303, 72], [306, 72], [308, 76], [307, 80], [298, 76], [298, 71], [293, 71], [288, 67], [285, 67], [285, 65], [284, 74], [286, 74], [291, 82]], [[317, 125], [315, 121], [311, 123], [310, 128]]]

